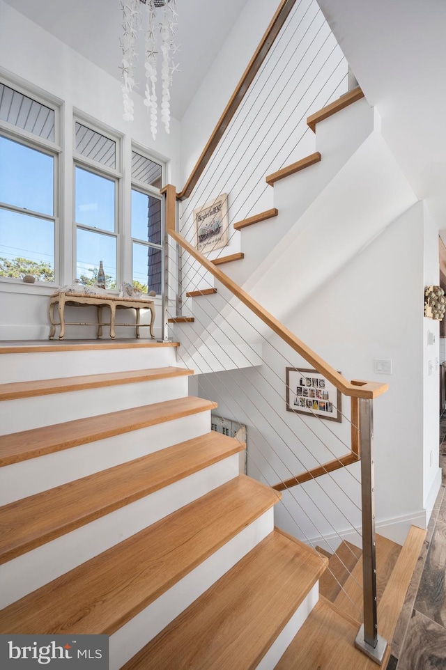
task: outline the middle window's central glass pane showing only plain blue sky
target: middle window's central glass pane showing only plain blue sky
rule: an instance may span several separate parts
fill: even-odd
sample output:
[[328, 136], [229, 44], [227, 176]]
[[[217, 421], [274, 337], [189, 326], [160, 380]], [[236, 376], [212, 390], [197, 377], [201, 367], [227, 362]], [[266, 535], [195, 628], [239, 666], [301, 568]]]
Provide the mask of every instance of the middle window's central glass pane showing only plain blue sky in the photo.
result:
[[76, 168], [76, 223], [114, 233], [115, 185], [113, 179]]

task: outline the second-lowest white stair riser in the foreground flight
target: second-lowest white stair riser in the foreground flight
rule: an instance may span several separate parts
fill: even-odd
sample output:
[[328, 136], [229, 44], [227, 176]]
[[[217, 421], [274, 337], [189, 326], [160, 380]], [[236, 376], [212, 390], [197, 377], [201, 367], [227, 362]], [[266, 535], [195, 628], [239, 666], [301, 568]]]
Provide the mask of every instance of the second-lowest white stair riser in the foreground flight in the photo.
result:
[[118, 670], [186, 607], [261, 542], [274, 527], [270, 509], [110, 636], [110, 670]]

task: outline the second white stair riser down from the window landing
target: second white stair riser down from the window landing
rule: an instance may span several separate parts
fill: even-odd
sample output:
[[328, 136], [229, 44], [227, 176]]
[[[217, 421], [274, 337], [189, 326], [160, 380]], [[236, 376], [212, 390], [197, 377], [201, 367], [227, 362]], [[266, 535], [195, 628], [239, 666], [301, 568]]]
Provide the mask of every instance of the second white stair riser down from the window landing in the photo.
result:
[[187, 396], [187, 375], [0, 402], [0, 434]]

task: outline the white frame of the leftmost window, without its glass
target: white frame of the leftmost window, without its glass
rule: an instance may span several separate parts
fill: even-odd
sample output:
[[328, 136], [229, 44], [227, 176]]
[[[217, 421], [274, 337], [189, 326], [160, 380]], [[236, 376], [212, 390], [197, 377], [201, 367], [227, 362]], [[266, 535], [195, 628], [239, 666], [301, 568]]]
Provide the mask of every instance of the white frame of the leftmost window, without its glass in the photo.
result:
[[[39, 104], [52, 109], [54, 112], [54, 141], [39, 137], [38, 134], [29, 132], [28, 130], [23, 130], [22, 128], [0, 118], [0, 135], [5, 139], [16, 142], [25, 146], [27, 148], [43, 153], [47, 156], [52, 157], [53, 159], [53, 213], [52, 215], [44, 214], [43, 212], [35, 212], [33, 210], [27, 210], [26, 208], [17, 207], [17, 205], [12, 205], [10, 203], [0, 202], [0, 208], [2, 210], [17, 212], [25, 216], [31, 216], [36, 219], [43, 219], [44, 221], [52, 221], [54, 226], [54, 281], [37, 281], [36, 286], [47, 286], [53, 288], [59, 284], [61, 276], [61, 267], [60, 267], [60, 208], [61, 208], [61, 184], [62, 184], [62, 175], [61, 175], [61, 155], [62, 147], [60, 142], [61, 134], [61, 107], [63, 102], [57, 100], [52, 96], [41, 95], [36, 89], [32, 86], [22, 86], [17, 81], [12, 81], [8, 77], [0, 76], [0, 83], [8, 88], [12, 88], [13, 91], [17, 91], [21, 95], [30, 98]], [[22, 279], [18, 277], [6, 277], [0, 276], [0, 282], [6, 284], [22, 284]]]

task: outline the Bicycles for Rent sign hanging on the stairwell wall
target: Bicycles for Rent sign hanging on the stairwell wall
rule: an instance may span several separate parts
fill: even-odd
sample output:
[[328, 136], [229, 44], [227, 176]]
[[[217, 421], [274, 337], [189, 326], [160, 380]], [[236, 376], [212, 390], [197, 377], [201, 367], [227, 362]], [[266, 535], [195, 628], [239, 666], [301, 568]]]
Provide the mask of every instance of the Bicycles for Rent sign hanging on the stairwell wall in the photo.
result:
[[223, 193], [194, 210], [195, 247], [202, 254], [228, 244], [228, 196]]

